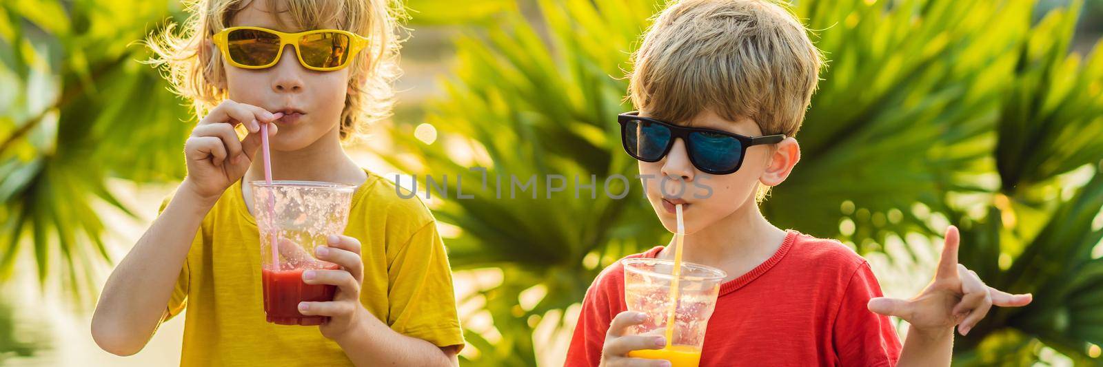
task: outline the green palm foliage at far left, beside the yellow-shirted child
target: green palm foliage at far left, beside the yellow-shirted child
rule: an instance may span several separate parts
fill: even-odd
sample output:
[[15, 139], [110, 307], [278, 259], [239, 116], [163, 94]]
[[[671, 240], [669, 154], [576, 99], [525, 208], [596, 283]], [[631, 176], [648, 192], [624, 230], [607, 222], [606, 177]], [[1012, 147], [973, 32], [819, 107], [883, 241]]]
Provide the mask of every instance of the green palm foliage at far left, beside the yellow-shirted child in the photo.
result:
[[[168, 2], [7, 1], [0, 6], [0, 273], [32, 245], [38, 276], [53, 272], [75, 295], [110, 260], [99, 203], [124, 213], [108, 177], [179, 177], [189, 126], [141, 40]], [[85, 246], [92, 244], [93, 246]], [[92, 251], [89, 251], [92, 250]], [[60, 256], [60, 258], [58, 258]], [[52, 266], [62, 267], [52, 269]]]

